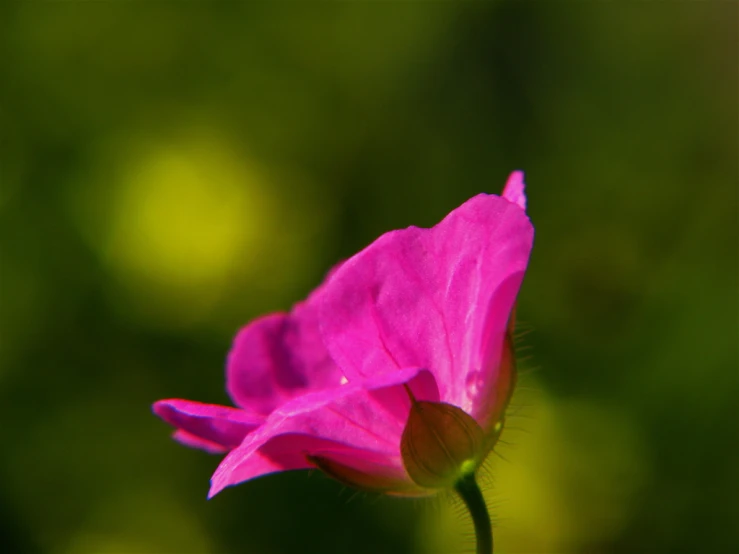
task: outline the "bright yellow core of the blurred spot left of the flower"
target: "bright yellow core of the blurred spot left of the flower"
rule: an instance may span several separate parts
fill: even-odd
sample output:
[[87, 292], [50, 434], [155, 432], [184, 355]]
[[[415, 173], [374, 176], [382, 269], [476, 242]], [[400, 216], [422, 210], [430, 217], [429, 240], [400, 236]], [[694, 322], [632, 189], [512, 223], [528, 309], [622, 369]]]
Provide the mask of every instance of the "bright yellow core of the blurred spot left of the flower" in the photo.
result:
[[113, 198], [107, 257], [162, 289], [218, 287], [268, 226], [263, 188], [212, 143], [153, 151]]

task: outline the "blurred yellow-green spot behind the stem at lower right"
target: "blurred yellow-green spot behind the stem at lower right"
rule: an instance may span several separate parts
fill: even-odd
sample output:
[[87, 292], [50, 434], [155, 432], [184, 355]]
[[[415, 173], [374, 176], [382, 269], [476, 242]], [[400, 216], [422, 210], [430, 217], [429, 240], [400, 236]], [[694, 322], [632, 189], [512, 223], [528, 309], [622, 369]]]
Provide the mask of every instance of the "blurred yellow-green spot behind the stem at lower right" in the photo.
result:
[[[479, 479], [496, 551], [592, 551], [629, 520], [647, 471], [643, 444], [621, 412], [544, 395], [535, 406], [523, 423], [508, 419], [502, 439], [512, 446], [496, 446], [508, 461], [491, 455]], [[422, 542], [433, 554], [471, 551], [470, 531], [464, 510], [446, 509], [430, 516]]]

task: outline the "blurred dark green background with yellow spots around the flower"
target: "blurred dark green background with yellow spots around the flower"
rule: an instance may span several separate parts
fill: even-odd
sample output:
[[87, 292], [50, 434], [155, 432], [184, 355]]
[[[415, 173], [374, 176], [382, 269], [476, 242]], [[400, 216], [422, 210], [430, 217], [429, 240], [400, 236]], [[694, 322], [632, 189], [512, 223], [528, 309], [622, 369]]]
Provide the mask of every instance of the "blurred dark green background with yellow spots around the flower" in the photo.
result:
[[0, 4], [0, 551], [455, 551], [448, 501], [317, 473], [206, 501], [150, 404], [226, 403], [240, 325], [521, 168], [500, 552], [736, 552], [738, 10]]

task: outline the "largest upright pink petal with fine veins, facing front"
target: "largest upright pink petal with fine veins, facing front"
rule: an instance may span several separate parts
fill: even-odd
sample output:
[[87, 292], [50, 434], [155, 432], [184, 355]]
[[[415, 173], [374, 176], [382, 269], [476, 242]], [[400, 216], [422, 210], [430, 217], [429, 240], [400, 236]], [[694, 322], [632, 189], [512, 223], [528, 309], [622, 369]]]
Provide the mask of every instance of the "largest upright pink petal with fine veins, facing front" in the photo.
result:
[[441, 400], [475, 416], [495, 383], [532, 242], [519, 205], [485, 194], [431, 229], [383, 235], [326, 287], [321, 329], [331, 356], [350, 381], [428, 368]]

